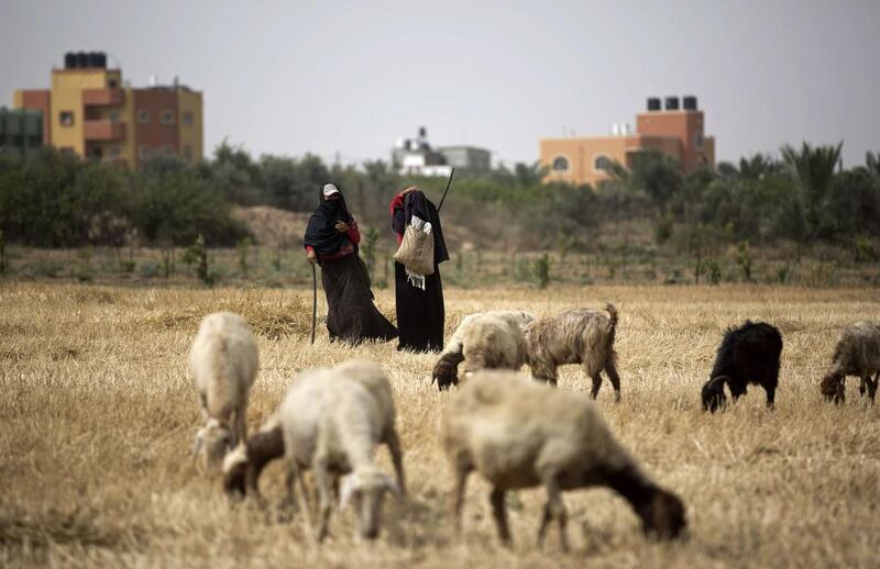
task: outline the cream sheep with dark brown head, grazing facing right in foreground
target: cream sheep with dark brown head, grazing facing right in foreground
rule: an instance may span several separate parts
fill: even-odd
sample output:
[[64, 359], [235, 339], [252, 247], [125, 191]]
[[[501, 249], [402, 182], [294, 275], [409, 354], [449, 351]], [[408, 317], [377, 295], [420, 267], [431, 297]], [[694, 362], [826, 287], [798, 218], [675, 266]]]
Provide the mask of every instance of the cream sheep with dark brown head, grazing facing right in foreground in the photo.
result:
[[614, 439], [595, 404], [581, 394], [549, 389], [510, 371], [481, 371], [450, 401], [442, 444], [455, 472], [457, 529], [472, 470], [493, 487], [490, 501], [505, 545], [510, 543], [505, 492], [539, 484], [548, 497], [539, 545], [556, 520], [568, 549], [561, 493], [578, 488], [615, 490], [630, 503], [647, 534], [669, 539], [686, 525], [681, 500], [641, 470]]

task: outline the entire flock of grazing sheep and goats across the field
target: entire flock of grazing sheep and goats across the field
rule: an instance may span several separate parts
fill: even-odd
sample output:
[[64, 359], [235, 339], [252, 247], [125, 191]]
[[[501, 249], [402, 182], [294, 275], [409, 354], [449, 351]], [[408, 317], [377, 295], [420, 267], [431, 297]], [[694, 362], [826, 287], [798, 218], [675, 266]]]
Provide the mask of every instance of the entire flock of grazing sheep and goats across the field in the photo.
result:
[[[457, 529], [468, 476], [477, 471], [493, 487], [490, 501], [504, 544], [510, 542], [505, 492], [538, 486], [547, 491], [539, 544], [557, 522], [568, 548], [561, 493], [595, 486], [626, 499], [646, 534], [661, 539], [682, 534], [686, 516], [681, 499], [660, 488], [617, 443], [588, 398], [549, 389], [518, 372], [526, 364], [535, 379], [556, 386], [559, 366], [580, 364], [592, 380], [593, 399], [605, 371], [619, 401], [616, 327], [612, 304], [604, 311], [570, 310], [546, 319], [518, 311], [486, 312], [459, 324], [433, 370], [433, 380], [444, 390], [459, 384], [458, 367], [465, 364], [466, 381], [447, 405], [441, 429], [454, 471]], [[749, 383], [763, 387], [772, 408], [781, 352], [782, 336], [768, 323], [747, 321], [728, 330], [702, 390], [703, 409], [714, 412], [726, 403], [725, 386], [737, 399]], [[230, 495], [262, 500], [260, 475], [283, 457], [285, 500], [293, 507], [299, 505], [297, 482], [309, 507], [302, 475], [312, 471], [319, 539], [328, 534], [337, 500], [340, 510], [349, 504], [354, 509], [358, 535], [372, 539], [380, 534], [384, 498], [405, 495], [406, 478], [392, 389], [378, 365], [346, 361], [298, 373], [277, 411], [248, 437], [248, 395], [258, 367], [249, 324], [228, 312], [210, 314], [199, 327], [189, 359], [205, 422], [196, 435], [194, 456], [200, 456], [209, 471], [221, 469]], [[843, 332], [821, 392], [843, 402], [846, 376], [861, 379], [860, 392], [872, 403], [880, 376], [880, 324], [859, 322]], [[375, 462], [381, 444], [391, 451], [394, 478]]]

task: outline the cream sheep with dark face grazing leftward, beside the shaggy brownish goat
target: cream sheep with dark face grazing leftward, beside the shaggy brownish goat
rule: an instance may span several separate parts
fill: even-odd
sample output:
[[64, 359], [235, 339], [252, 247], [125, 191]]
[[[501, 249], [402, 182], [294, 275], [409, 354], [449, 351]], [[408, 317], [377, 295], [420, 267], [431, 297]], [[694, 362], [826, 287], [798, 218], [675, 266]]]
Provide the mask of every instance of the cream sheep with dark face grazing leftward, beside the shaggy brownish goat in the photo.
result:
[[452, 333], [433, 367], [431, 382], [443, 391], [459, 383], [458, 368], [468, 361], [468, 371], [482, 368], [519, 369], [524, 364], [522, 327], [535, 315], [514, 310], [470, 314]]

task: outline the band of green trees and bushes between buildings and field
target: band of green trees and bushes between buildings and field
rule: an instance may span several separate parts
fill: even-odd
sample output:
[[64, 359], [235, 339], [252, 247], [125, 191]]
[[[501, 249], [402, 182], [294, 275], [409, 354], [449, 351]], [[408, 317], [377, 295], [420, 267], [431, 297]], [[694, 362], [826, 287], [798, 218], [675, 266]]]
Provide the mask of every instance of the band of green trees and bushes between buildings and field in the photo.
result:
[[[880, 154], [844, 170], [840, 148], [804, 143], [782, 147], [779, 159], [758, 154], [686, 174], [646, 152], [629, 169], [612, 165], [596, 188], [542, 183], [537, 164], [517, 164], [457, 175], [443, 219], [488, 248], [590, 248], [609, 223], [634, 220], [649, 224], [657, 244], [697, 255], [743, 241], [849, 246], [880, 235]], [[0, 156], [0, 230], [7, 242], [41, 247], [182, 246], [199, 234], [209, 246], [231, 245], [246, 236], [232, 204], [311, 211], [328, 180], [363, 225], [380, 227], [395, 192], [418, 185], [439, 200], [446, 182], [403, 178], [381, 160], [355, 168], [311, 155], [254, 159], [227, 143], [197, 165], [160, 156], [138, 171], [44, 148], [26, 161]]]

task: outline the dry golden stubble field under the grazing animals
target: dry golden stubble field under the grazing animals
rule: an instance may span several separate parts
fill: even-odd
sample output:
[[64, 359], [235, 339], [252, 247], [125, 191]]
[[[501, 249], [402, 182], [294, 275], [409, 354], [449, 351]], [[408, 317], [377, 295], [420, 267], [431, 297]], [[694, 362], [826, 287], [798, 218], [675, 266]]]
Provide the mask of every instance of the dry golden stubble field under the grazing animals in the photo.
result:
[[[378, 291], [393, 313], [393, 291]], [[448, 516], [450, 469], [438, 429], [453, 394], [429, 386], [435, 356], [394, 344], [308, 343], [310, 291], [134, 289], [0, 284], [0, 566], [371, 567], [877, 567], [880, 555], [880, 408], [848, 383], [826, 404], [818, 381], [838, 331], [880, 319], [877, 289], [590, 287], [452, 289], [449, 328], [465, 314], [520, 308], [550, 314], [613, 301], [623, 401], [598, 402], [618, 438], [688, 506], [690, 535], [646, 540], [626, 502], [607, 490], [565, 494], [572, 551], [551, 533], [536, 547], [543, 492], [509, 498], [515, 545], [497, 545], [488, 487], [472, 477], [459, 539]], [[189, 453], [199, 421], [187, 370], [198, 322], [242, 313], [260, 337], [251, 428], [302, 368], [349, 358], [392, 377], [410, 499], [386, 502], [376, 543], [352, 537], [334, 513], [314, 542], [302, 517], [230, 503]], [[725, 413], [698, 408], [722, 332], [765, 319], [782, 331], [776, 411], [760, 388]], [[560, 389], [584, 391], [576, 367]], [[389, 468], [387, 453], [380, 451]], [[391, 471], [391, 470], [389, 470]], [[280, 497], [283, 471], [263, 478]]]

